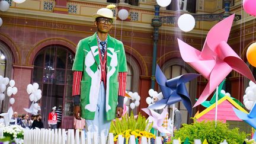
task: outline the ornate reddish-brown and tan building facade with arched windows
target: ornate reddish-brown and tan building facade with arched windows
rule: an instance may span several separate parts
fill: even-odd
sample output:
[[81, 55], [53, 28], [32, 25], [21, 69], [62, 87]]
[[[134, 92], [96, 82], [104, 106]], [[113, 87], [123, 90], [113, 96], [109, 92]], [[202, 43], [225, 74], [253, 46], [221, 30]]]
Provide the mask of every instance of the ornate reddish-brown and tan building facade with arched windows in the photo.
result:
[[[99, 8], [108, 4], [117, 5], [114, 14], [120, 9], [129, 11], [129, 17], [114, 22], [111, 36], [123, 41], [126, 51], [129, 72], [127, 75], [127, 91], [138, 92], [141, 100], [140, 108], [148, 107], [146, 97], [151, 88], [153, 34], [151, 26], [155, 15], [155, 0], [141, 1], [86, 1], [86, 0], [27, 0], [15, 4], [11, 0], [8, 11], [0, 12], [3, 24], [0, 27], [0, 50], [5, 59], [1, 59], [1, 75], [14, 79], [18, 93], [13, 95], [14, 111], [25, 113], [23, 108], [30, 106], [26, 92], [27, 85], [37, 82], [42, 91], [39, 101], [40, 113], [44, 123], [53, 106], [63, 105], [62, 127], [73, 127], [72, 104], [72, 63], [76, 44], [81, 39], [95, 33], [94, 20], [91, 17]], [[241, 20], [233, 23], [228, 43], [242, 59], [246, 60], [246, 50], [254, 42], [254, 17], [246, 14], [241, 6], [242, 1], [233, 0], [230, 12], [241, 15]], [[160, 8], [159, 15], [175, 17], [180, 14], [219, 14], [224, 13], [224, 2], [221, 0], [172, 1], [166, 8]], [[202, 16], [203, 17], [203, 16]], [[195, 72], [180, 56], [177, 38], [180, 38], [201, 50], [207, 31], [218, 21], [197, 21], [194, 30], [184, 33], [177, 23], [162, 23], [158, 30], [156, 63], [167, 78], [183, 73]], [[249, 64], [248, 64], [249, 65]], [[251, 68], [256, 75], [255, 69]], [[187, 84], [191, 100], [194, 102], [206, 86], [207, 81], [200, 77]], [[232, 71], [226, 82], [226, 92], [242, 101], [244, 89], [248, 85], [245, 79]], [[157, 85], [154, 89], [159, 91]], [[1, 111], [10, 106], [9, 97], [1, 102]], [[183, 123], [190, 123], [183, 104], [177, 104], [183, 114]], [[193, 114], [203, 107], [193, 108]], [[47, 125], [46, 125], [47, 126]]]

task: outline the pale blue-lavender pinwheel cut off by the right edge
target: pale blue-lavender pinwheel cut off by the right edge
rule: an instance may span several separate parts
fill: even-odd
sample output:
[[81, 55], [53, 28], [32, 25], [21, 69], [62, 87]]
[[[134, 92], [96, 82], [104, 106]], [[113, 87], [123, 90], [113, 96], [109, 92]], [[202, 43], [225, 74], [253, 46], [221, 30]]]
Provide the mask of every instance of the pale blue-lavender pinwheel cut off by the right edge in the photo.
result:
[[[254, 107], [252, 107], [249, 114], [244, 113], [243, 111], [240, 111], [233, 107], [233, 111], [235, 111], [236, 116], [245, 121], [245, 123], [248, 123], [251, 127], [256, 129], [256, 104], [254, 104]], [[256, 133], [254, 133], [253, 139], [256, 140]]]

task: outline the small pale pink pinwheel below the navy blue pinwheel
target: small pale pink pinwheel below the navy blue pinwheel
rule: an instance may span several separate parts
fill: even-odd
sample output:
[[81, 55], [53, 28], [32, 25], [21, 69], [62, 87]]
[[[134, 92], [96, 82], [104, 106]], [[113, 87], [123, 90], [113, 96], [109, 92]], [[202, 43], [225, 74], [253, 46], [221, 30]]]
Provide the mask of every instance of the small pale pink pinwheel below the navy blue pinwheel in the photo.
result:
[[149, 108], [142, 108], [142, 110], [149, 115], [148, 120], [149, 120], [149, 123], [153, 122], [153, 126], [152, 126], [153, 128], [157, 129], [161, 133], [171, 133], [162, 126], [162, 124], [164, 123], [164, 119], [168, 114], [167, 107], [163, 109], [161, 114], [156, 113], [155, 111]]

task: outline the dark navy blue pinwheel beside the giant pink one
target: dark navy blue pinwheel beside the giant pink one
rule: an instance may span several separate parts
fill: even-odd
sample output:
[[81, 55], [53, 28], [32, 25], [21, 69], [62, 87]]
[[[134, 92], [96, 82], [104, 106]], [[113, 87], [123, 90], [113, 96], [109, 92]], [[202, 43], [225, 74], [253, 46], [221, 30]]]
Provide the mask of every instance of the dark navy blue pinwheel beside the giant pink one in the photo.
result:
[[187, 73], [167, 80], [159, 66], [156, 65], [156, 82], [158, 82], [164, 98], [149, 106], [149, 108], [159, 110], [164, 108], [166, 105], [171, 105], [182, 101], [191, 116], [192, 104], [190, 96], [187, 92], [187, 88], [185, 87], [185, 83], [193, 80], [199, 75], [200, 74], [196, 73]]

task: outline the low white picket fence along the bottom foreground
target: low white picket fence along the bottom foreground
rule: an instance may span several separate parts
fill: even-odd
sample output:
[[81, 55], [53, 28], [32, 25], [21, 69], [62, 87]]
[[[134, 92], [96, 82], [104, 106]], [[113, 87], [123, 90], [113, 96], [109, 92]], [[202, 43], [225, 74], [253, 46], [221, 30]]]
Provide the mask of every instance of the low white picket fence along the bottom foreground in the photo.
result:
[[[76, 131], [76, 132], [75, 132]], [[68, 135], [65, 129], [33, 129], [24, 130], [24, 144], [114, 144], [113, 133], [109, 133], [108, 139], [101, 136], [100, 139], [97, 133], [87, 132], [87, 139], [85, 139], [85, 132], [79, 134], [79, 130], [68, 129]], [[117, 144], [123, 144], [124, 137], [119, 135]], [[129, 144], [135, 144], [135, 136], [131, 136]], [[150, 139], [142, 137], [140, 144], [151, 144]], [[155, 144], [162, 144], [161, 137], [156, 137]]]

